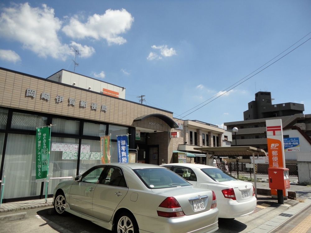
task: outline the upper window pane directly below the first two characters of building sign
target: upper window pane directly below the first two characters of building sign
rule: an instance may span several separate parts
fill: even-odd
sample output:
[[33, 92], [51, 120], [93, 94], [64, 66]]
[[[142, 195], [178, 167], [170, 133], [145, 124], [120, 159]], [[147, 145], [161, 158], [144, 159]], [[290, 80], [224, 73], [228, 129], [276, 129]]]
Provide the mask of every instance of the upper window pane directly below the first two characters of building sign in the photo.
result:
[[20, 130], [36, 130], [36, 127], [46, 126], [47, 119], [47, 117], [38, 115], [13, 112], [11, 128]]

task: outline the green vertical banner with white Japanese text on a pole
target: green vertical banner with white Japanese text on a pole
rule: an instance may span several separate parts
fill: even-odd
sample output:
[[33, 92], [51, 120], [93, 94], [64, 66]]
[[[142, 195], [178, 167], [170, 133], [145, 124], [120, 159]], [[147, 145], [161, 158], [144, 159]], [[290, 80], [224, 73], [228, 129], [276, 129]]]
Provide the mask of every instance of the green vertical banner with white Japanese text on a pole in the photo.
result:
[[46, 181], [49, 167], [50, 127], [36, 129], [36, 181]]

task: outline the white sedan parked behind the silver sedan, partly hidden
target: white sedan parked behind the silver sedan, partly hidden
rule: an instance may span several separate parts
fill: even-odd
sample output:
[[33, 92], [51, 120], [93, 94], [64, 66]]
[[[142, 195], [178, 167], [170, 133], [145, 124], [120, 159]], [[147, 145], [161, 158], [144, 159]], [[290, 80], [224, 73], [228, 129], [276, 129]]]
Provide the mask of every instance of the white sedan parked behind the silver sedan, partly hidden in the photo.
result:
[[255, 188], [251, 182], [237, 180], [219, 168], [202, 164], [170, 163], [161, 166], [174, 171], [197, 187], [213, 190], [220, 218], [245, 216], [256, 208]]

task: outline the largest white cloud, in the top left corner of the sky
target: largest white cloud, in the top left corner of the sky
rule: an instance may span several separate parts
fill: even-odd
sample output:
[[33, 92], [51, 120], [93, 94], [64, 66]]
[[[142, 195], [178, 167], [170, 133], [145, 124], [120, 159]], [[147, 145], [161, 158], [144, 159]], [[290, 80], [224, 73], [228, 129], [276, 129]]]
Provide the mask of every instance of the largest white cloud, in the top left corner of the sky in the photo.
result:
[[62, 22], [54, 17], [54, 9], [45, 4], [32, 8], [28, 3], [3, 8], [0, 16], [0, 35], [23, 44], [40, 57], [51, 56], [65, 60], [70, 48], [62, 44], [57, 32]]

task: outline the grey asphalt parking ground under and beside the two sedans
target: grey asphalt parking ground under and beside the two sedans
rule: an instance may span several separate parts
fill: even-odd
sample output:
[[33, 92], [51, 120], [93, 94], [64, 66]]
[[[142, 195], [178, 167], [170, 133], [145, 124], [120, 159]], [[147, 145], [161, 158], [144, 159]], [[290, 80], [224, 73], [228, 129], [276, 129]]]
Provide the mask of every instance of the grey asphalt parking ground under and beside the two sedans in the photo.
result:
[[[219, 219], [217, 233], [245, 233], [256, 226], [267, 222], [272, 217], [284, 212], [289, 206], [271, 203], [270, 206], [256, 208], [251, 215], [235, 219]], [[111, 233], [80, 217], [67, 214], [60, 217], [55, 214], [52, 207], [34, 208], [16, 212], [5, 212], [0, 215], [26, 212], [27, 218], [13, 221], [0, 222], [0, 232], [23, 232], [23, 233]]]

